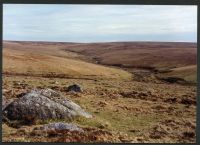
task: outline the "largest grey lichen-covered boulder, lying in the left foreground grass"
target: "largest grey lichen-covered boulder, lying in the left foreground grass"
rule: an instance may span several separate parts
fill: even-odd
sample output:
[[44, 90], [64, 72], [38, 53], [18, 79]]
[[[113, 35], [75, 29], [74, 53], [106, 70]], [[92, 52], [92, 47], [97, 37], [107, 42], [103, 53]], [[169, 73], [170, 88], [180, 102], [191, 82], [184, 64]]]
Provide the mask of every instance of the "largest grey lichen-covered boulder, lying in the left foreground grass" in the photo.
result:
[[3, 111], [9, 120], [67, 119], [76, 116], [91, 118], [79, 105], [51, 90], [33, 90], [14, 100]]

